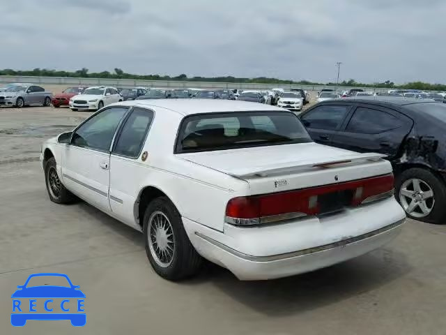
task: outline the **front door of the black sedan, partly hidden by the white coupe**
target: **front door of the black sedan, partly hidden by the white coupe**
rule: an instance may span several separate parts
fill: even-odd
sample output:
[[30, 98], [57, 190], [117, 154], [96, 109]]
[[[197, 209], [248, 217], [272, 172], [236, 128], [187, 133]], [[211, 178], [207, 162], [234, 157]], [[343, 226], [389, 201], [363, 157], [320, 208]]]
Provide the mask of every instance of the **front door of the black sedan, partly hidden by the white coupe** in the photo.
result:
[[332, 145], [332, 137], [341, 128], [351, 105], [319, 105], [301, 119], [314, 142]]

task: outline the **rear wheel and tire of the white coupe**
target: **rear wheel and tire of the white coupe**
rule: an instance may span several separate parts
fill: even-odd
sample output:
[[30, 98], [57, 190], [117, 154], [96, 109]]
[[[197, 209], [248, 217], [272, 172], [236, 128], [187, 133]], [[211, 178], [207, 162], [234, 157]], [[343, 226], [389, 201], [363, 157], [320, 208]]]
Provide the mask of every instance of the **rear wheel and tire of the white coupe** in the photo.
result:
[[[162, 228], [157, 229], [157, 223], [161, 223]], [[160, 244], [157, 244], [155, 233], [159, 231], [165, 239], [164, 243], [160, 239]], [[190, 243], [181, 216], [169, 198], [156, 198], [148, 204], [144, 213], [143, 235], [148, 260], [162, 278], [179, 281], [197, 274], [203, 259]], [[157, 251], [161, 249], [164, 249], [164, 254], [159, 257]]]

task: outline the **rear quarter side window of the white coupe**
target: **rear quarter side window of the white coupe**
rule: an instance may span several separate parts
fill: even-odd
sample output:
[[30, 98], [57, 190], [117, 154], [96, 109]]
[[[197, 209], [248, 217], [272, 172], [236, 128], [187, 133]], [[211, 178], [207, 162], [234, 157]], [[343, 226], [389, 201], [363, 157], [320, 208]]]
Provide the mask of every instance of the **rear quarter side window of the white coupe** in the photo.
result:
[[132, 114], [122, 128], [121, 135], [114, 146], [113, 153], [137, 158], [141, 152], [146, 133], [151, 126], [153, 112], [144, 108], [134, 107]]

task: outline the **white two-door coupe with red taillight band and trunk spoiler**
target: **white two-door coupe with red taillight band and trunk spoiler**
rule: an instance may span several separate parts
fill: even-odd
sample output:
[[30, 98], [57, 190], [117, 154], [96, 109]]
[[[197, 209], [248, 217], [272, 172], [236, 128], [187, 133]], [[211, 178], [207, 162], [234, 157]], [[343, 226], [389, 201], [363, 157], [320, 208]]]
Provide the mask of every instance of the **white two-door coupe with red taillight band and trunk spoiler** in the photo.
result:
[[383, 246], [406, 218], [382, 155], [316, 144], [293, 112], [259, 103], [115, 103], [40, 159], [50, 200], [141, 231], [170, 280], [203, 258], [242, 280], [312, 271]]

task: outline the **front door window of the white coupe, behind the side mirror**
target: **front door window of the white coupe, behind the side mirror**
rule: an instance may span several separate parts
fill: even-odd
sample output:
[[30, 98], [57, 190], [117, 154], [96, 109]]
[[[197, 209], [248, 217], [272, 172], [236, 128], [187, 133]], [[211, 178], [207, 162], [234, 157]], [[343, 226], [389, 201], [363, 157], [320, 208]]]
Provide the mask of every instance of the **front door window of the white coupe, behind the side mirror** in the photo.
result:
[[86, 121], [72, 136], [72, 144], [109, 151], [110, 144], [119, 122], [127, 112], [127, 108], [112, 107]]

